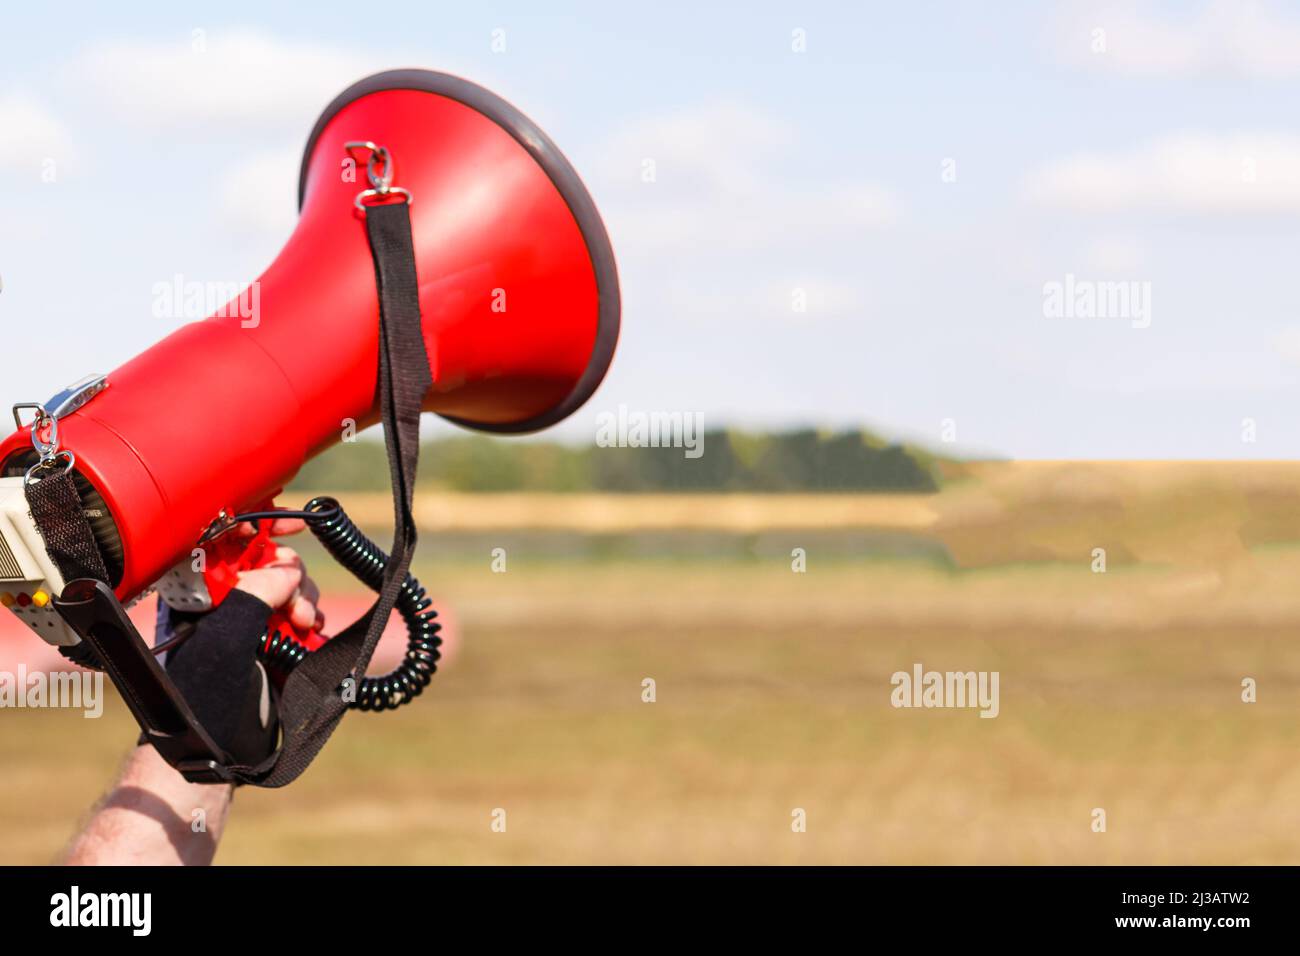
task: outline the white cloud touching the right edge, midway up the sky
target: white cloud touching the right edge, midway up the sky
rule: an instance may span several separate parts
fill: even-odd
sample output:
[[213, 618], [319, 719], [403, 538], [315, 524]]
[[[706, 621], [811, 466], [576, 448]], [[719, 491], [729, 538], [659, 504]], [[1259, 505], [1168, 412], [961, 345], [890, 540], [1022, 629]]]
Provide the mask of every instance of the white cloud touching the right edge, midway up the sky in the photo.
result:
[[1083, 153], [1037, 169], [1034, 203], [1076, 212], [1300, 213], [1300, 137], [1164, 137], [1124, 152]]

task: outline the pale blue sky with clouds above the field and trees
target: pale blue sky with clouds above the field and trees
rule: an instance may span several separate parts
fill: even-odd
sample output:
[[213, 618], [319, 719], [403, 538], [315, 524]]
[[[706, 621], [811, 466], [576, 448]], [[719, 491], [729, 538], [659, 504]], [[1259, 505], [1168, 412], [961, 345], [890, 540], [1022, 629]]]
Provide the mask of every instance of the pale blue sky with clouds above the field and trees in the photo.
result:
[[[0, 402], [166, 334], [156, 282], [256, 277], [320, 109], [424, 66], [530, 114], [604, 213], [624, 336], [567, 438], [623, 403], [1019, 458], [1300, 450], [1295, 8], [363, 9], [0, 16]], [[1046, 316], [1066, 276], [1148, 287], [1149, 326]]]

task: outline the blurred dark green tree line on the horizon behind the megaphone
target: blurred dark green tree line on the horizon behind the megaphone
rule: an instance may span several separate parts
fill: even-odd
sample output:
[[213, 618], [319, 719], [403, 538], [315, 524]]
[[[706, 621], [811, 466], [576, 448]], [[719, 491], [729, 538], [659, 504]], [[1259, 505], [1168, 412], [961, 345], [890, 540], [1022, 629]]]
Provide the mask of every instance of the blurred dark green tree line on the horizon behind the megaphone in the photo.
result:
[[[597, 447], [488, 436], [426, 441], [420, 486], [458, 492], [933, 492], [926, 453], [862, 431], [712, 431], [703, 453]], [[296, 488], [382, 490], [384, 446], [363, 437], [308, 462]]]

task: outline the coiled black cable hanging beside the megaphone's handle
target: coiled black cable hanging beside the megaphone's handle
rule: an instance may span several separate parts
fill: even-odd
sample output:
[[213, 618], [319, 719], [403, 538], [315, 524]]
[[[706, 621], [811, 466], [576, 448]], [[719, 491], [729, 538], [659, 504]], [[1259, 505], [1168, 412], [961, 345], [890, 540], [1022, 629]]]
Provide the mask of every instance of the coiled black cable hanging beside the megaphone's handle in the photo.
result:
[[[330, 557], [370, 591], [377, 592], [384, 587], [384, 568], [389, 563], [389, 555], [352, 523], [334, 498], [312, 498], [300, 512], [277, 512], [276, 516], [286, 515], [303, 518]], [[237, 515], [235, 520], [246, 518], [247, 515]], [[442, 645], [442, 639], [438, 637], [442, 624], [432, 605], [420, 581], [408, 574], [394, 604], [394, 610], [402, 615], [410, 635], [406, 658], [391, 674], [358, 675], [356, 700], [348, 706], [356, 710], [391, 710], [411, 702], [429, 685], [438, 669], [438, 648]], [[263, 641], [259, 658], [283, 678], [309, 653], [292, 633], [276, 628]]]

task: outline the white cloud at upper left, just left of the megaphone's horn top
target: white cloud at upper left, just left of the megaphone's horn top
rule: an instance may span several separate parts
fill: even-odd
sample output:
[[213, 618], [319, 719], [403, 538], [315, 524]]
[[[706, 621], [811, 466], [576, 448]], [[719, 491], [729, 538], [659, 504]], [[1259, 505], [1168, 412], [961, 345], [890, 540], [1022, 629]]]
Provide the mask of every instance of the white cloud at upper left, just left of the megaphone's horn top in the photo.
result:
[[69, 79], [133, 125], [306, 131], [348, 83], [382, 64], [352, 51], [238, 30], [176, 40], [104, 40]]

